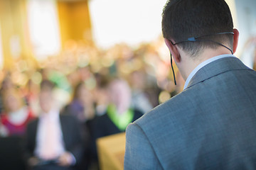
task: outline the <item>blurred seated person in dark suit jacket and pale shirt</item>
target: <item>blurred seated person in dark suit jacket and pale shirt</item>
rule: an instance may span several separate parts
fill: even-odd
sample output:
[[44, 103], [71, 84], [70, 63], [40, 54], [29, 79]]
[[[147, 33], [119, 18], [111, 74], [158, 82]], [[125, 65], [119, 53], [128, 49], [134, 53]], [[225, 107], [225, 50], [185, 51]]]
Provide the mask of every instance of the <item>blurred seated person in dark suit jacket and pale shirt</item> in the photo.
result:
[[73, 115], [60, 115], [53, 83], [41, 82], [39, 118], [28, 124], [26, 149], [31, 169], [74, 169], [83, 153], [82, 133]]

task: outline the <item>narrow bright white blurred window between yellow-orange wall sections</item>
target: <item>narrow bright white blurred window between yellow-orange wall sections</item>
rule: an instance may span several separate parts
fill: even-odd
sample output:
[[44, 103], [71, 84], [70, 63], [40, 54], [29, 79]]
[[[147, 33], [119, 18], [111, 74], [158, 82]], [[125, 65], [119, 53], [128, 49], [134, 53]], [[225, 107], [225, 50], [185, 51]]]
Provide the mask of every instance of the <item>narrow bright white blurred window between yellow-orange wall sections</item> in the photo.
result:
[[33, 52], [42, 60], [60, 52], [60, 29], [55, 0], [28, 0], [28, 26]]

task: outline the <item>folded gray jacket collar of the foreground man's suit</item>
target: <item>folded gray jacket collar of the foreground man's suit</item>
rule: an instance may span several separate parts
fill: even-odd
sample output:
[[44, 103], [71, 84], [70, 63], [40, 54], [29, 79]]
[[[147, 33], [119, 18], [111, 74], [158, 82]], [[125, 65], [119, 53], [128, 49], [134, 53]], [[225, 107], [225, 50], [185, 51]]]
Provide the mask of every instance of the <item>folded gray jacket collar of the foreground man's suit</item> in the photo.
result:
[[215, 60], [214, 62], [210, 62], [206, 66], [202, 67], [198, 70], [198, 72], [193, 76], [191, 81], [188, 83], [188, 88], [198, 84], [206, 79], [210, 79], [211, 77], [215, 77], [218, 74], [222, 74], [224, 72], [229, 72], [231, 70], [245, 70], [250, 69], [245, 66], [238, 58], [236, 57], [225, 57], [219, 60]]

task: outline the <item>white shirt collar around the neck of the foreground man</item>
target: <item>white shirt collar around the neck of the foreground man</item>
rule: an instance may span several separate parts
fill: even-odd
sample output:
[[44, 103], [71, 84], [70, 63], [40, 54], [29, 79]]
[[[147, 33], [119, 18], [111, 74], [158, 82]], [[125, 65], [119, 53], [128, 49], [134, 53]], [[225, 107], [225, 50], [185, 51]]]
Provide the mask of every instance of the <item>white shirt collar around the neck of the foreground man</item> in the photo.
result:
[[185, 81], [185, 85], [184, 85], [183, 89], [186, 89], [188, 87], [189, 81], [191, 81], [192, 77], [196, 74], [196, 72], [198, 72], [199, 69], [206, 66], [210, 62], [214, 62], [215, 60], [219, 60], [219, 59], [224, 58], [224, 57], [235, 57], [235, 55], [218, 55], [218, 56], [212, 57], [212, 58], [210, 58], [210, 59], [208, 59], [204, 62], [201, 62], [201, 64], [199, 64], [195, 69], [193, 69], [191, 74], [189, 74], [188, 79], [186, 79], [186, 81]]

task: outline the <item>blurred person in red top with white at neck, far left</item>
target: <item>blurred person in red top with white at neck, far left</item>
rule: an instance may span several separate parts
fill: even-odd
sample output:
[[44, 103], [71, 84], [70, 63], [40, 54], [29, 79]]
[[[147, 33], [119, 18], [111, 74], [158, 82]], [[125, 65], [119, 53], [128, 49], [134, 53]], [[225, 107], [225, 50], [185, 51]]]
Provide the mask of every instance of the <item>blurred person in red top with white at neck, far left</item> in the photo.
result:
[[3, 99], [4, 111], [1, 113], [1, 129], [6, 130], [6, 136], [24, 135], [26, 125], [34, 118], [33, 113], [14, 88], [4, 91]]

